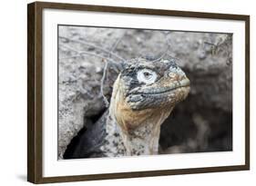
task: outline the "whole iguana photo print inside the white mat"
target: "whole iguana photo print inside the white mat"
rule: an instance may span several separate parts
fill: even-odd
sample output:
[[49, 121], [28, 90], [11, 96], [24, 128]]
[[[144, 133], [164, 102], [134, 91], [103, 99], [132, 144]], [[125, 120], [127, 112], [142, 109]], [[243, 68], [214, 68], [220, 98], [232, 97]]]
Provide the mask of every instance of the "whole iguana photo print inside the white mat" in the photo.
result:
[[58, 159], [232, 151], [232, 34], [57, 32]]

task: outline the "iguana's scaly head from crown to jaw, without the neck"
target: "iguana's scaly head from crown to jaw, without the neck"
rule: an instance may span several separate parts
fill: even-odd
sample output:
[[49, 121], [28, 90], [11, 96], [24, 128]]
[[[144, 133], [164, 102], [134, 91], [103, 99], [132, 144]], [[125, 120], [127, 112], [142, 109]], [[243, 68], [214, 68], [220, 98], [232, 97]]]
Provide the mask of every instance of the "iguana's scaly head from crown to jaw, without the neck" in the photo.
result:
[[189, 79], [174, 59], [130, 60], [119, 78], [124, 101], [136, 111], [174, 106], [189, 93]]

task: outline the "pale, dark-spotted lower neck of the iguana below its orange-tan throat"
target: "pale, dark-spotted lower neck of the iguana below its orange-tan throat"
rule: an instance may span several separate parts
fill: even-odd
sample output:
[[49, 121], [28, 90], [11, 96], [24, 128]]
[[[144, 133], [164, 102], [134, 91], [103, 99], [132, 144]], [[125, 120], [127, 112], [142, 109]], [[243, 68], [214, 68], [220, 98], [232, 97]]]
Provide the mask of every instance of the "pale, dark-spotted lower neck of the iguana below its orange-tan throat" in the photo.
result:
[[158, 154], [160, 125], [169, 113], [163, 112], [159, 119], [148, 120], [128, 132], [124, 131], [109, 113], [106, 123], [107, 142], [101, 150], [108, 157]]

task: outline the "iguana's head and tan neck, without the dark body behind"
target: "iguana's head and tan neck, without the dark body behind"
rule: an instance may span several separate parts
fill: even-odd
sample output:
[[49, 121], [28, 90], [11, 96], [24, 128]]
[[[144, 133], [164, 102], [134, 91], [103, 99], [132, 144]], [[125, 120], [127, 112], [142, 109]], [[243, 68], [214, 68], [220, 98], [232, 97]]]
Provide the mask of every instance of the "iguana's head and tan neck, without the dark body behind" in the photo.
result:
[[189, 79], [173, 59], [137, 58], [124, 64], [109, 106], [128, 152], [156, 154], [160, 124], [189, 94]]

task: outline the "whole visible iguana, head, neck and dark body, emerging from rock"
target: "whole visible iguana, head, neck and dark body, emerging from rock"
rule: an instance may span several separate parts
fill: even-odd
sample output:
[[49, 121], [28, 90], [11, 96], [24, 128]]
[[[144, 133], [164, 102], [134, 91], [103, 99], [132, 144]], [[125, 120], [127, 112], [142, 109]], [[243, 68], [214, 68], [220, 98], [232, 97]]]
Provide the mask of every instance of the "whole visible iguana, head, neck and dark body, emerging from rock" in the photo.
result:
[[68, 158], [158, 154], [160, 125], [189, 89], [188, 77], [173, 58], [126, 61], [108, 111], [87, 128]]

